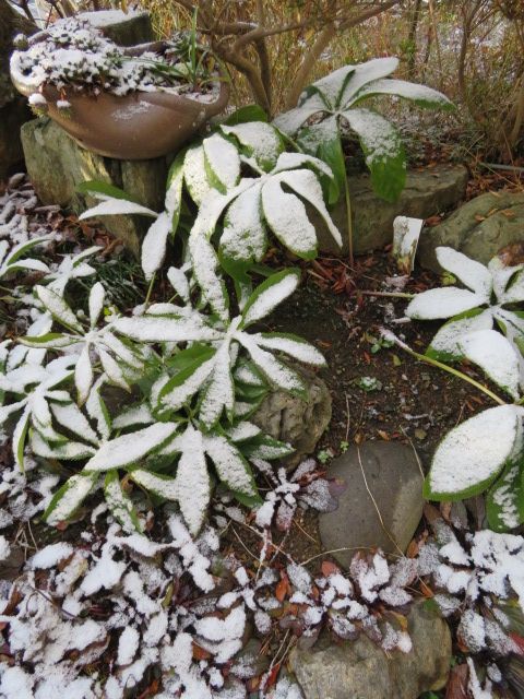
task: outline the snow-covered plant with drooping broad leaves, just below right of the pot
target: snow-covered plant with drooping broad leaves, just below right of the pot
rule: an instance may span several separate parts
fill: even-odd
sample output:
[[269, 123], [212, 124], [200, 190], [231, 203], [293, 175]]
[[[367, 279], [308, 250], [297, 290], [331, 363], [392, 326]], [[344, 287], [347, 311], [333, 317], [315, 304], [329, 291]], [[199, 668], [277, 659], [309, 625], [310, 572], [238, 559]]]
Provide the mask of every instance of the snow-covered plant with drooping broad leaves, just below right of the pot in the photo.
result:
[[270, 230], [295, 254], [305, 259], [317, 256], [317, 234], [305, 202], [318, 211], [342, 245], [325, 208], [320, 181], [332, 178], [330, 167], [321, 159], [285, 152], [282, 137], [269, 123], [223, 125], [176, 157], [160, 214], [129, 200], [117, 188], [84, 182], [81, 190], [103, 201], [81, 218], [114, 214], [153, 216], [155, 222], [142, 246], [142, 268], [146, 279], [152, 279], [164, 262], [168, 237], [179, 226], [182, 193], [187, 189], [199, 208], [199, 215], [190, 226], [190, 254], [193, 265], [200, 268], [200, 274], [195, 269], [196, 281], [204, 274], [202, 268], [210, 254], [206, 242], [222, 220], [218, 256], [213, 251], [213, 257], [228, 274], [243, 281], [252, 264], [262, 260]]

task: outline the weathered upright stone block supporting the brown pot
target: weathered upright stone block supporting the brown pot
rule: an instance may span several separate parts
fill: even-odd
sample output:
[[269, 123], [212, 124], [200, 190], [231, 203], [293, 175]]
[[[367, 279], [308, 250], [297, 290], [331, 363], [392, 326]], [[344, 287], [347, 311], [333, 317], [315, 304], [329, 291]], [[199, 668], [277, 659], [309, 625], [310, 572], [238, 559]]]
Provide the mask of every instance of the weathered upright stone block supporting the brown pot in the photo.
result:
[[[47, 117], [24, 123], [21, 137], [27, 174], [44, 204], [59, 204], [80, 214], [96, 201], [79, 194], [76, 187], [97, 179], [124, 189], [154, 211], [164, 206], [167, 156], [150, 161], [103, 157], [81, 147]], [[138, 256], [151, 221], [144, 216], [104, 216], [104, 226]]]

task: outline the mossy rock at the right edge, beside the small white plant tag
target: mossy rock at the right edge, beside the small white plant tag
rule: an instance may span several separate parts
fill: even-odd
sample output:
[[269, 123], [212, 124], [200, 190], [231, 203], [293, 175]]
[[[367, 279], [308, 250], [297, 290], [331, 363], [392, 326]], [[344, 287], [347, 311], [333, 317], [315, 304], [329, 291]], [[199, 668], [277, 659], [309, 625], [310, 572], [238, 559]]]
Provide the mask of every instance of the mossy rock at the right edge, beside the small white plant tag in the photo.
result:
[[487, 263], [502, 248], [524, 242], [524, 192], [488, 192], [463, 204], [433, 228], [425, 228], [418, 261], [441, 272], [434, 250], [449, 246]]

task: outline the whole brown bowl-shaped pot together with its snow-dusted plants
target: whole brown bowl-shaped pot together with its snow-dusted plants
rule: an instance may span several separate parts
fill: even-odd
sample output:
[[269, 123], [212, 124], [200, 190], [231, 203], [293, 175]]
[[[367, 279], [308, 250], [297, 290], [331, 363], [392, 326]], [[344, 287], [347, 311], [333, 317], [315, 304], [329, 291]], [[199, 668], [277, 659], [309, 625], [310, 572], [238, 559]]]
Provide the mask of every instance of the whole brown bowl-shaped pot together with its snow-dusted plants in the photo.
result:
[[20, 44], [11, 78], [81, 145], [122, 159], [178, 150], [229, 98], [194, 34], [122, 48], [78, 19]]

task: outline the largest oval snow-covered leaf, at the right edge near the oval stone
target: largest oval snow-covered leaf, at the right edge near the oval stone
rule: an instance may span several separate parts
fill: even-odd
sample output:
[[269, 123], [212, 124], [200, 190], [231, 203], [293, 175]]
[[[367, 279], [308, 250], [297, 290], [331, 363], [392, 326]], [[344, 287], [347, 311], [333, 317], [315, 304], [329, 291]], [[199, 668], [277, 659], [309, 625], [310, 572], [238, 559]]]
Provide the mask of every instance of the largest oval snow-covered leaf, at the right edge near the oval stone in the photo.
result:
[[455, 427], [440, 442], [425, 483], [429, 500], [463, 500], [483, 493], [522, 439], [522, 408], [490, 407]]

